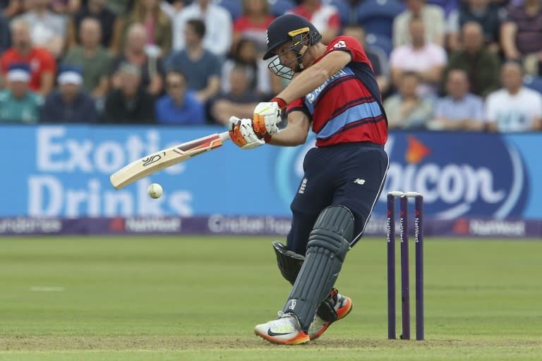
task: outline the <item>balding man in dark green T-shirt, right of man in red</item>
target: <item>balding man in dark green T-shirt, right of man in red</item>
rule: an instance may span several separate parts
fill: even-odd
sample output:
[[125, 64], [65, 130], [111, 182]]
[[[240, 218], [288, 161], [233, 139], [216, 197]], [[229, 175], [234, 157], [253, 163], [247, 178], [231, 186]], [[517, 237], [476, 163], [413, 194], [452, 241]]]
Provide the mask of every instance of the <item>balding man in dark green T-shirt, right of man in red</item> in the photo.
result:
[[64, 63], [83, 68], [83, 90], [94, 99], [102, 99], [109, 87], [111, 56], [102, 47], [100, 22], [86, 18], [81, 22], [81, 45], [72, 47], [64, 57]]

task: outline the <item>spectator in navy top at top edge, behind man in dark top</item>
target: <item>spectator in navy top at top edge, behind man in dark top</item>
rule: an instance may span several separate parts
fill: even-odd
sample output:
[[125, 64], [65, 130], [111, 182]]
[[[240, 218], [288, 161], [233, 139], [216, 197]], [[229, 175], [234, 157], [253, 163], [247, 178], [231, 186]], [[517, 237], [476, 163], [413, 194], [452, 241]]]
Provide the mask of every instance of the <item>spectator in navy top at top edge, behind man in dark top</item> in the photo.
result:
[[488, 49], [497, 53], [500, 50], [500, 25], [505, 16], [505, 9], [491, 0], [466, 0], [448, 17], [448, 49], [454, 51], [461, 48], [459, 32], [463, 25], [472, 21], [482, 27], [484, 42]]

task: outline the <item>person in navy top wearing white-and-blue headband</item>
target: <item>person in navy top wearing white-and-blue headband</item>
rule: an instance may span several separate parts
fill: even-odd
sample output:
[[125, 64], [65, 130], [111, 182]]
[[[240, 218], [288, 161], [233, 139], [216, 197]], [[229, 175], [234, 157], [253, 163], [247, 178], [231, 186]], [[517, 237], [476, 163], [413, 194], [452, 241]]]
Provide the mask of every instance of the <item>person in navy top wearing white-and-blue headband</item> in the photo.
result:
[[83, 75], [75, 67], [64, 67], [56, 78], [58, 90], [47, 96], [41, 121], [47, 123], [94, 123], [98, 119], [95, 102], [83, 89]]

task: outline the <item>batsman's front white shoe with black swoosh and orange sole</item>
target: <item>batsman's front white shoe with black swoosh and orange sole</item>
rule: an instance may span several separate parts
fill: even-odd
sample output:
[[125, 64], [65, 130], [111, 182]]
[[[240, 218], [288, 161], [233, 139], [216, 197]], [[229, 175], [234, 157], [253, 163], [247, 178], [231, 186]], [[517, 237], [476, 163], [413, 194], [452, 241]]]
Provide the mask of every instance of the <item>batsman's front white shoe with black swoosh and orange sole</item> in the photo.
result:
[[301, 329], [297, 317], [291, 313], [279, 312], [278, 319], [256, 325], [254, 332], [267, 341], [280, 345], [299, 345], [311, 340]]

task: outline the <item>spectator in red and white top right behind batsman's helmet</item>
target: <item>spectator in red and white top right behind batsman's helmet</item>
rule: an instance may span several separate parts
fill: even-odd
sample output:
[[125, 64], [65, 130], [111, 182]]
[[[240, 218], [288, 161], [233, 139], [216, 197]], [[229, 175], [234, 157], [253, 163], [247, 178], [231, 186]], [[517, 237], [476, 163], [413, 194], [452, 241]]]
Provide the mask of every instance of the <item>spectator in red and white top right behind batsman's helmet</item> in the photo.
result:
[[309, 20], [322, 35], [322, 42], [329, 43], [339, 35], [341, 17], [335, 6], [322, 4], [321, 0], [301, 0], [291, 12]]

